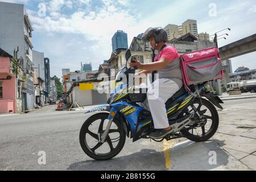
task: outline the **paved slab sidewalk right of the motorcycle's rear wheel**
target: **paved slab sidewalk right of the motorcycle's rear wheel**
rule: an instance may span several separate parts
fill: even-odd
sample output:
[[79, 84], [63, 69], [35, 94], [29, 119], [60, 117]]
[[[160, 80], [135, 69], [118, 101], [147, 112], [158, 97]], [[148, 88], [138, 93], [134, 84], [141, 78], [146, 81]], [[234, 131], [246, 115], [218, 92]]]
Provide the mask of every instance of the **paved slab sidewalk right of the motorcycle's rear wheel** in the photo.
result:
[[256, 170], [255, 104], [226, 106], [218, 113], [220, 126], [213, 139], [234, 158]]

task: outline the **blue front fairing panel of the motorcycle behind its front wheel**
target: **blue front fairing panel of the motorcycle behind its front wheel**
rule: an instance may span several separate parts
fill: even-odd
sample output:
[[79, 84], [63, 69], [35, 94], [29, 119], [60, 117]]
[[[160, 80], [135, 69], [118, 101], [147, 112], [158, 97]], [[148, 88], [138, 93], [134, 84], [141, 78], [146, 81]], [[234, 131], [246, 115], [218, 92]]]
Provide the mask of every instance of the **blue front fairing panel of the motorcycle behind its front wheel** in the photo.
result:
[[[121, 113], [123, 115], [123, 117], [125, 117], [126, 121], [128, 122], [130, 128], [131, 128], [131, 136], [133, 137], [136, 131], [136, 127], [137, 127], [137, 122], [138, 122], [138, 118], [139, 118], [139, 114], [141, 113], [141, 111], [143, 110], [143, 107], [139, 107], [139, 106], [134, 106], [129, 104], [128, 102], [116, 102], [112, 105], [110, 105], [111, 107], [114, 107], [116, 110], [119, 111], [119, 113]], [[133, 113], [127, 114], [125, 115], [124, 113], [122, 113], [122, 109], [119, 109], [118, 107], [127, 107], [127, 106], [131, 106], [133, 107], [132, 109], [134, 109]]]

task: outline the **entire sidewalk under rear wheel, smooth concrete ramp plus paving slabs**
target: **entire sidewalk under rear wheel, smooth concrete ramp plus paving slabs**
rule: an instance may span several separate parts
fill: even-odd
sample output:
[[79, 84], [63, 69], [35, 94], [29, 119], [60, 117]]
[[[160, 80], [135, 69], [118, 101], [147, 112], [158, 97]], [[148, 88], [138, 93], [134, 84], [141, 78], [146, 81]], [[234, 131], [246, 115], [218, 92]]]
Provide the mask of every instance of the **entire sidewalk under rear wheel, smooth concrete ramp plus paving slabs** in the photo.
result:
[[170, 170], [256, 170], [255, 104], [225, 106], [218, 114], [217, 133], [207, 142], [174, 141]]

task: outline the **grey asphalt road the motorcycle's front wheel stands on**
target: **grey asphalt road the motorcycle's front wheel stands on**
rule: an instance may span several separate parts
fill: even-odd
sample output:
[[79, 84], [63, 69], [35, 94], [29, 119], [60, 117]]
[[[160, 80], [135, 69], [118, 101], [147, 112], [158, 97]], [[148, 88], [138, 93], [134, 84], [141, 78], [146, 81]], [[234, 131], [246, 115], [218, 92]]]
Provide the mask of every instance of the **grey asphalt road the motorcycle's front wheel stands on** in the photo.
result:
[[[256, 98], [225, 101], [228, 105], [256, 103]], [[84, 111], [55, 111], [46, 106], [27, 114], [0, 117], [0, 170], [164, 170], [164, 148], [173, 144], [132, 143], [126, 138], [123, 150], [112, 160], [98, 162], [84, 154], [79, 143]], [[46, 164], [39, 164], [42, 153]], [[39, 154], [39, 155], [38, 155]], [[43, 161], [43, 160], [40, 160]]]

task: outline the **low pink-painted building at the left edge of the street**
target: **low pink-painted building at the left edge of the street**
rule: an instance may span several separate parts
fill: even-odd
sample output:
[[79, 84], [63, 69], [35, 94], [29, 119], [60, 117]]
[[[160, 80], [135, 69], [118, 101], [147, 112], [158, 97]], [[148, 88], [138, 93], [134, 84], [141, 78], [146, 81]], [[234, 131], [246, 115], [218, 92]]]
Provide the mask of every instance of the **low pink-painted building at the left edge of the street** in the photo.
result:
[[3, 98], [0, 98], [0, 113], [16, 112], [16, 78], [9, 72], [10, 59], [0, 57], [0, 78], [11, 76], [11, 80], [0, 80], [3, 82]]

